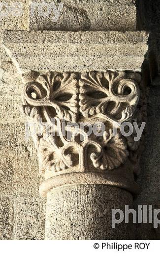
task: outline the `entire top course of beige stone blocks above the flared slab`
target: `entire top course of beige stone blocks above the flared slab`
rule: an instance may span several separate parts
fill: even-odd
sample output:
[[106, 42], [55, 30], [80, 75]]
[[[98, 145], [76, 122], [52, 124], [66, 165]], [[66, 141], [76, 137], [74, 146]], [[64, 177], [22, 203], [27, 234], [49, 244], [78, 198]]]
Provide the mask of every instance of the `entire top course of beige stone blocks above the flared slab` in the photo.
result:
[[[105, 0], [63, 0], [58, 19], [55, 21], [54, 9], [47, 17], [46, 9], [42, 7], [42, 15], [35, 7], [32, 16], [32, 4], [42, 4], [42, 0], [19, 0], [22, 7], [15, 8], [14, 0], [5, 0], [6, 8], [2, 5], [0, 17], [1, 30], [60, 30], [60, 31], [135, 31], [136, 30], [136, 3], [135, 1], [105, 1]], [[45, 0], [46, 3], [55, 3], [58, 8], [60, 1]], [[15, 10], [17, 10], [15, 12]], [[18, 16], [15, 15], [18, 14]], [[44, 15], [43, 15], [44, 14]], [[123, 19], [122, 19], [123, 17]]]

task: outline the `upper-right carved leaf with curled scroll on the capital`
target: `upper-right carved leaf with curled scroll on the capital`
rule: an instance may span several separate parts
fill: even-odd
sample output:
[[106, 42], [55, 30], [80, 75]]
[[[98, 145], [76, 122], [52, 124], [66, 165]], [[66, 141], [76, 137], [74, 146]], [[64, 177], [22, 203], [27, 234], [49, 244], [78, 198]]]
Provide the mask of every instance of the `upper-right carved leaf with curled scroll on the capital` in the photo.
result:
[[[139, 75], [136, 74], [137, 80]], [[114, 123], [132, 117], [138, 100], [139, 88], [125, 72], [85, 72], [80, 84], [80, 111], [86, 118], [98, 115]]]

